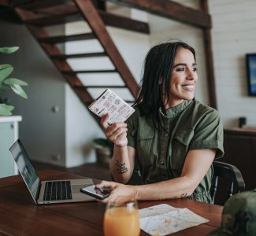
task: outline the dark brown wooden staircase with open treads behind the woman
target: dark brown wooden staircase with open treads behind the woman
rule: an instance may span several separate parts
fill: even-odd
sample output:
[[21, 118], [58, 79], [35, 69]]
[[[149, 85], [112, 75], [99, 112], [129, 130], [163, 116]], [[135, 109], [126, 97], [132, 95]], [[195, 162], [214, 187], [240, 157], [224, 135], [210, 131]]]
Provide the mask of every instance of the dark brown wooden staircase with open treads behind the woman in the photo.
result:
[[[106, 22], [109, 18], [106, 17], [106, 13], [96, 9], [91, 0], [17, 0], [15, 2], [16, 6], [14, 10], [17, 15], [39, 42], [39, 45], [43, 48], [48, 57], [50, 57], [50, 60], [54, 63], [55, 67], [58, 68], [58, 71], [65, 77], [66, 82], [69, 83], [72, 90], [74, 90], [86, 108], [95, 99], [89, 92], [90, 89], [103, 89], [107, 87], [110, 89], [121, 88], [128, 90], [130, 94], [132, 94], [132, 97], [136, 98], [138, 84], [117, 50], [108, 31], [106, 31], [106, 24], [104, 21]], [[91, 32], [76, 35], [53, 36], [46, 30], [46, 27], [52, 25], [65, 24], [81, 19], [87, 22], [88, 26], [91, 28]], [[112, 23], [112, 25], [113, 24], [115, 23]], [[91, 39], [98, 40], [103, 50], [93, 53], [65, 54], [58, 47], [59, 43]], [[68, 62], [68, 60], [74, 58], [92, 57], [108, 57], [109, 61], [113, 64], [113, 69], [74, 70]], [[108, 81], [106, 81], [106, 84], [101, 84], [100, 86], [88, 86], [82, 83], [79, 77], [80, 74], [88, 73], [98, 73], [102, 76], [104, 76], [105, 73], [118, 73], [123, 80], [124, 85], [109, 86]], [[128, 102], [132, 101], [133, 100]]]

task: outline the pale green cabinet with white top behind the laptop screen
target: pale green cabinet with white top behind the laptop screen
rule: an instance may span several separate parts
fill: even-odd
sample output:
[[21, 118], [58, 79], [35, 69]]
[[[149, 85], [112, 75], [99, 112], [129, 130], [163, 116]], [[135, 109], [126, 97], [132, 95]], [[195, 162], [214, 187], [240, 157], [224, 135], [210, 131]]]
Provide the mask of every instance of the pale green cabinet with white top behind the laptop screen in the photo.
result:
[[18, 122], [21, 116], [0, 116], [0, 178], [17, 175], [16, 164], [9, 147], [18, 138]]

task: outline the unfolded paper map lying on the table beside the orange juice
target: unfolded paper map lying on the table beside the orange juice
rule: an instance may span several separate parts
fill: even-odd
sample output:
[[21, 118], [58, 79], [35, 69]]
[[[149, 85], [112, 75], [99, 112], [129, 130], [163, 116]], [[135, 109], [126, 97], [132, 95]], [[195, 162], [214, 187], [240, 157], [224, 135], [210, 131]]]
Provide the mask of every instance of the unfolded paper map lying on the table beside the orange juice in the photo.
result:
[[140, 228], [150, 235], [167, 235], [209, 222], [187, 208], [173, 208], [167, 204], [139, 210]]

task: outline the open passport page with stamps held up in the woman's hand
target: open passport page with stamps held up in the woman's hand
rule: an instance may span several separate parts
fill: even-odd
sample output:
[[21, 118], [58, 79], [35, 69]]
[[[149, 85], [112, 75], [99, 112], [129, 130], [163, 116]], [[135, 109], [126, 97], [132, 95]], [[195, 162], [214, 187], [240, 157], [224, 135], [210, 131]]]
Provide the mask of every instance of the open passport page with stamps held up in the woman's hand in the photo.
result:
[[135, 109], [133, 109], [131, 105], [128, 105], [128, 103], [109, 89], [105, 90], [93, 103], [91, 103], [89, 109], [100, 117], [109, 113], [109, 124], [124, 122], [133, 112], [135, 112]]

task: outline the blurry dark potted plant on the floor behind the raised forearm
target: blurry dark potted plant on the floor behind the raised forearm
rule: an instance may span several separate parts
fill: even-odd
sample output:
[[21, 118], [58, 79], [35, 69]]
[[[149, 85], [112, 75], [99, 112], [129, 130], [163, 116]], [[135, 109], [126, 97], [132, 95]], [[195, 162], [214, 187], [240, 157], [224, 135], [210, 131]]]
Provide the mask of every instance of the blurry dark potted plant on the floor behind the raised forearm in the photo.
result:
[[95, 138], [93, 142], [98, 164], [108, 166], [113, 156], [113, 143], [107, 138]]

